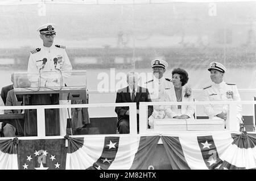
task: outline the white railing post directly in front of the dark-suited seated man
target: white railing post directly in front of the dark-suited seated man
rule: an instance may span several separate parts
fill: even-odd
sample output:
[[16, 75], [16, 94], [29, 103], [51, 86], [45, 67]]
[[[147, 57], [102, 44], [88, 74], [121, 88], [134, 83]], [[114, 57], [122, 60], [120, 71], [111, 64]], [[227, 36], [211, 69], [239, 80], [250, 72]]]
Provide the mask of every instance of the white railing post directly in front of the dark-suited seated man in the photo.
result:
[[130, 134], [136, 135], [137, 134], [137, 106], [136, 103], [132, 103], [129, 106], [130, 112]]

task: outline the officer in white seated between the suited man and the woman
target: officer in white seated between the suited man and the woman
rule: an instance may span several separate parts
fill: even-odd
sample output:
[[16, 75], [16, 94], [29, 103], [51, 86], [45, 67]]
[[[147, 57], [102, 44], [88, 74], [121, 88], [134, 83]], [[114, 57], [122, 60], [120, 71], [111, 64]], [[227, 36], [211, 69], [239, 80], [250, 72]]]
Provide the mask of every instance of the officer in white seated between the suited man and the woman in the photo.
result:
[[[155, 59], [151, 61], [151, 67], [154, 74], [154, 78], [146, 82], [146, 87], [150, 92], [150, 98], [152, 102], [164, 102], [164, 90], [174, 89], [171, 79], [164, 78], [164, 73], [168, 67], [168, 63], [161, 59]], [[164, 113], [164, 106], [154, 106], [154, 111], [150, 117], [148, 117], [148, 125], [151, 128], [154, 126], [154, 119], [163, 119], [166, 115]]]

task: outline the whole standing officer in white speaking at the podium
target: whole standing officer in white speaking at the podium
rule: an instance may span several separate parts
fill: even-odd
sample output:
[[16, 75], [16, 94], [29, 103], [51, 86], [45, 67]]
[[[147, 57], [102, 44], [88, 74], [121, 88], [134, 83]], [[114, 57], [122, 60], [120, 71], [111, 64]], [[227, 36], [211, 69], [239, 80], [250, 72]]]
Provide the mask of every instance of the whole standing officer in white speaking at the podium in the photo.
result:
[[[38, 85], [38, 77], [29, 77], [31, 86], [59, 86], [62, 77], [60, 77], [60, 74], [57, 74], [55, 70], [72, 70], [71, 62], [65, 51], [65, 46], [57, 44], [53, 45], [53, 40], [56, 35], [55, 24], [44, 24], [43, 26], [40, 26], [37, 31], [40, 33], [40, 39], [42, 39], [43, 45], [31, 50], [27, 71], [28, 73], [31, 73], [31, 75], [32, 73], [39, 73], [42, 81], [40, 82], [40, 85]], [[44, 73], [45, 71], [52, 71], [52, 73]], [[67, 78], [69, 77], [69, 74], [62, 74], [61, 76]], [[70, 104], [70, 101], [67, 100], [67, 95], [65, 94], [60, 94], [59, 99], [59, 104]], [[60, 135], [66, 134], [67, 117], [67, 109], [60, 109]]]

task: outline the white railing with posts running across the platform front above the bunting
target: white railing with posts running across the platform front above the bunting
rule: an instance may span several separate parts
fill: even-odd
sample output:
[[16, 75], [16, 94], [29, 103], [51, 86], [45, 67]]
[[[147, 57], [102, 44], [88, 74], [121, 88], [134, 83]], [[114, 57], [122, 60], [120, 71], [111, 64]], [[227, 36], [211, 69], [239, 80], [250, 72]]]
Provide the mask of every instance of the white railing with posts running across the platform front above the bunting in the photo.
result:
[[[147, 107], [148, 106], [170, 106], [170, 105], [205, 105], [225, 104], [229, 105], [229, 119], [226, 121], [226, 129], [237, 131], [230, 120], [237, 119], [237, 104], [256, 104], [256, 101], [230, 101], [230, 102], [140, 102], [139, 104], [139, 133], [154, 133], [147, 130]], [[44, 110], [52, 108], [100, 108], [100, 107], [129, 107], [130, 110], [130, 134], [137, 134], [137, 106], [136, 103], [105, 103], [105, 104], [65, 104], [65, 105], [42, 105], [42, 106], [0, 106], [0, 110], [37, 110], [38, 137], [46, 136], [46, 124]], [[255, 126], [255, 124], [254, 124]]]

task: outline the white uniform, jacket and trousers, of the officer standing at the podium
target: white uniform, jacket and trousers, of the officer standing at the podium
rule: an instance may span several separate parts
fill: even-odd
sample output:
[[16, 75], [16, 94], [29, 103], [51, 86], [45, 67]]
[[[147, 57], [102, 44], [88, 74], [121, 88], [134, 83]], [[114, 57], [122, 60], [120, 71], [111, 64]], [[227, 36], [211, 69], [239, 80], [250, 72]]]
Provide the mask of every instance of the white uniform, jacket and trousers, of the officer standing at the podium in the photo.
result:
[[[28, 60], [28, 73], [38, 73], [39, 69], [42, 68], [43, 58], [47, 58], [46, 65], [42, 71], [55, 71], [55, 65], [53, 58], [57, 58], [57, 69], [61, 71], [72, 70], [71, 62], [69, 61], [68, 55], [65, 51], [65, 47], [62, 45], [52, 45], [51, 47], [41, 46], [34, 50], [31, 50], [30, 58]], [[35, 75], [35, 74], [33, 74]], [[62, 74], [63, 78], [69, 77], [69, 74]], [[46, 80], [51, 82], [51, 80], [59, 77], [59, 74], [53, 73], [42, 73], [42, 82], [40, 86], [45, 85]], [[28, 77], [31, 81], [31, 85], [38, 85], [38, 77], [32, 76]], [[59, 82], [59, 79], [58, 79]], [[60, 94], [60, 104], [71, 104], [71, 100], [67, 100], [67, 96]], [[69, 108], [69, 115], [71, 115], [71, 108]], [[60, 108], [60, 135], [63, 136], [66, 134], [68, 111], [65, 108]]]

